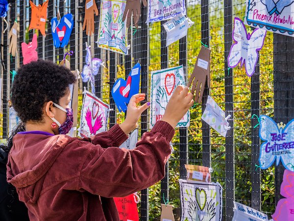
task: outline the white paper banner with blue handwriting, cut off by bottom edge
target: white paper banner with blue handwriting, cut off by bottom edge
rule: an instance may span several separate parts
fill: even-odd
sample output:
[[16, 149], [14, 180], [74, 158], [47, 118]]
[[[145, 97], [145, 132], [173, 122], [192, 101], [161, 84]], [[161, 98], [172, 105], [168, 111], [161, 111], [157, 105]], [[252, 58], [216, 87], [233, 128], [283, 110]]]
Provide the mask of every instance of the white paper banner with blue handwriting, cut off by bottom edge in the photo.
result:
[[234, 201], [234, 217], [232, 221], [268, 221], [268, 216], [249, 206]]

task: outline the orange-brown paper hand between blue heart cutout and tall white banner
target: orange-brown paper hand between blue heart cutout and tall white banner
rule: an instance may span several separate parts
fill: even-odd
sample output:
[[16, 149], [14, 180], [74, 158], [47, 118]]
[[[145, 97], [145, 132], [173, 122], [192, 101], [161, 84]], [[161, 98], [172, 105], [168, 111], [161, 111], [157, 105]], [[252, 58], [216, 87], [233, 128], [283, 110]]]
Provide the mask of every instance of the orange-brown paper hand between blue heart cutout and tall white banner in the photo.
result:
[[88, 36], [91, 36], [95, 30], [94, 13], [96, 16], [98, 15], [98, 8], [96, 5], [96, 1], [95, 0], [86, 0], [83, 30], [85, 30], [85, 28], [86, 28], [86, 34]]

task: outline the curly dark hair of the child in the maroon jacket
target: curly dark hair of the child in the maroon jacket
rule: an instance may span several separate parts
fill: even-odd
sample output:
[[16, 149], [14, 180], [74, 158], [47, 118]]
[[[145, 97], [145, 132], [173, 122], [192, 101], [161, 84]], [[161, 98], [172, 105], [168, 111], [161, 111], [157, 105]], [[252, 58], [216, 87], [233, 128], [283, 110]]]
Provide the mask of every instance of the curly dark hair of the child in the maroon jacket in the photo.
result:
[[75, 81], [66, 67], [42, 59], [32, 61], [18, 69], [11, 89], [12, 105], [24, 123], [40, 122], [45, 102], [58, 104]]

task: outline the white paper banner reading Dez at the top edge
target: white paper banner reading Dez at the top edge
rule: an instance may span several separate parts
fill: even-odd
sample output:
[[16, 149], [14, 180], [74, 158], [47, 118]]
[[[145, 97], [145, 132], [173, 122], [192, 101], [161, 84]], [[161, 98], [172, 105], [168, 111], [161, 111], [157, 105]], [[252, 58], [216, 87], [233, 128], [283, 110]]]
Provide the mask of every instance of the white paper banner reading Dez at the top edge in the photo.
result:
[[169, 20], [181, 12], [186, 15], [185, 0], [148, 0], [146, 23]]

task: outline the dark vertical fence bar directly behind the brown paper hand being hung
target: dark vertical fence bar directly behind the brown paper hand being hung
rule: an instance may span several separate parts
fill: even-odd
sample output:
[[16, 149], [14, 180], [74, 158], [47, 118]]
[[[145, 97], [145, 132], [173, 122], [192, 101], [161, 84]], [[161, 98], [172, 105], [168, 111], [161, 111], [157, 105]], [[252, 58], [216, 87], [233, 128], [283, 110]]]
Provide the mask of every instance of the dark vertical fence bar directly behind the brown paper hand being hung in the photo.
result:
[[[201, 41], [209, 47], [209, 0], [201, 0]], [[205, 84], [202, 97], [202, 112], [205, 110], [209, 86]], [[210, 128], [202, 120], [202, 162], [203, 166], [211, 166]]]

